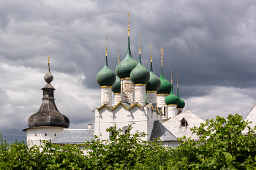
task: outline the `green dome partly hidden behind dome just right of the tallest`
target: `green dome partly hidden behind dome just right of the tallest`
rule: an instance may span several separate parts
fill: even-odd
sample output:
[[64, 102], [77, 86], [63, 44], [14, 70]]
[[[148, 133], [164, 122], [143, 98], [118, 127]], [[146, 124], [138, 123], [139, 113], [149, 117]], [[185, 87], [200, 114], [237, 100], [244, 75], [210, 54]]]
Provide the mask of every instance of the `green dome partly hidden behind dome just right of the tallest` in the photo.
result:
[[159, 90], [161, 86], [161, 80], [157, 77], [156, 74], [153, 72], [152, 68], [152, 62], [151, 62], [151, 68], [150, 68], [150, 79], [148, 83], [146, 84], [146, 91], [157, 91]]

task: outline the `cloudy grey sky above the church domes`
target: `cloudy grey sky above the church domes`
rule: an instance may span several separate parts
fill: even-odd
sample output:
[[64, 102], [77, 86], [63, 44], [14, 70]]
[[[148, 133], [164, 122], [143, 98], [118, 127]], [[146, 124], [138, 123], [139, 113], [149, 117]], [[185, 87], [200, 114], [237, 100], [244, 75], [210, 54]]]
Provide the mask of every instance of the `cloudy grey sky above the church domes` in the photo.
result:
[[[256, 103], [256, 2], [244, 1], [0, 1], [0, 131], [7, 142], [26, 140], [23, 128], [41, 104], [50, 56], [56, 105], [69, 128], [94, 123], [100, 104], [96, 75], [108, 36], [110, 69], [141, 36], [143, 65], [178, 74], [184, 109], [203, 119], [238, 113]], [[174, 80], [176, 84], [176, 79]], [[176, 89], [175, 89], [176, 93]]]

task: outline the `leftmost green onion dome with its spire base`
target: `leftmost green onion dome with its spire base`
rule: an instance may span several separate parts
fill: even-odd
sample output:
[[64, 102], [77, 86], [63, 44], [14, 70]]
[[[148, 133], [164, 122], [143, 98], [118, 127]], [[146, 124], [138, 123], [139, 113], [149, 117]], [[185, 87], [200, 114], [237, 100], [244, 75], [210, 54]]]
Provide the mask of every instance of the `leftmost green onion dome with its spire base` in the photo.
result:
[[116, 74], [108, 67], [107, 56], [105, 60], [105, 66], [98, 72], [96, 80], [100, 86], [112, 86], [116, 82]]

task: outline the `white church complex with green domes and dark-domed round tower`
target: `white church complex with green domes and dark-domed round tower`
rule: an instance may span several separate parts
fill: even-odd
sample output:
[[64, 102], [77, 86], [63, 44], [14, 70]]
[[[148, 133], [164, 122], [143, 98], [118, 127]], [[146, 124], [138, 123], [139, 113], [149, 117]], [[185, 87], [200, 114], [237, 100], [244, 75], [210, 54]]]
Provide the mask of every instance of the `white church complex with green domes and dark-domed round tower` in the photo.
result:
[[[106, 41], [108, 42], [108, 40]], [[140, 43], [139, 43], [140, 44]], [[163, 49], [161, 49], [163, 62]], [[129, 46], [129, 20], [128, 20], [128, 45], [127, 55], [116, 66], [116, 74], [108, 67], [108, 50], [106, 45], [105, 66], [97, 74], [97, 82], [101, 90], [101, 106], [94, 109], [94, 129], [89, 124], [88, 129], [69, 129], [69, 119], [62, 115], [56, 107], [54, 90], [50, 82], [53, 75], [45, 74], [42, 105], [38, 112], [31, 115], [28, 120], [29, 128], [26, 131], [28, 144], [41, 145], [42, 140], [48, 140], [55, 144], [82, 144], [94, 139], [94, 135], [100, 139], [109, 139], [112, 135], [106, 129], [116, 125], [123, 134], [136, 131], [148, 134], [143, 140], [154, 141], [159, 139], [164, 146], [178, 146], [177, 139], [182, 136], [191, 137], [198, 141], [196, 134], [192, 135], [190, 128], [200, 126], [205, 120], [198, 117], [185, 107], [185, 102], [173, 93], [173, 79], [171, 82], [165, 79], [164, 74], [157, 77], [153, 72], [152, 53], [150, 72], [140, 61], [132, 58]], [[119, 57], [119, 56], [118, 56]], [[112, 96], [114, 96], [112, 100]], [[114, 101], [114, 103], [112, 103]], [[247, 117], [256, 123], [256, 107], [253, 107]], [[128, 131], [128, 125], [132, 130]]]

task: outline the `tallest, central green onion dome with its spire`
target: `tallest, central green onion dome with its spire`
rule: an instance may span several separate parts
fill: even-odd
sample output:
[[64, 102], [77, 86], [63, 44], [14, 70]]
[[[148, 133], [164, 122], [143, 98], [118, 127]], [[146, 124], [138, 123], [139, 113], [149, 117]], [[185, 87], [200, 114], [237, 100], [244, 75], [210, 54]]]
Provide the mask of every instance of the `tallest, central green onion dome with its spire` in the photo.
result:
[[138, 62], [132, 58], [131, 50], [129, 47], [129, 36], [128, 36], [128, 47], [127, 47], [127, 55], [124, 60], [118, 63], [116, 66], [116, 75], [121, 79], [125, 77], [129, 77], [132, 69], [138, 65]]

